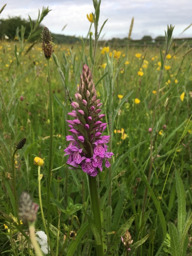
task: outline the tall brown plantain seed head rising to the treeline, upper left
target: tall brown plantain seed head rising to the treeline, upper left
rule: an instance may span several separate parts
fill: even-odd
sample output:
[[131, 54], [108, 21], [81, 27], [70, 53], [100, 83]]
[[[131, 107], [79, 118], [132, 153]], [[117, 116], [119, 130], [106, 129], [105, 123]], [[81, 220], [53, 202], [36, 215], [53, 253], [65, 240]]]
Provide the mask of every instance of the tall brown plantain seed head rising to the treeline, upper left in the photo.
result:
[[45, 58], [49, 60], [51, 58], [52, 53], [54, 52], [53, 46], [55, 45], [52, 41], [51, 33], [49, 32], [49, 29], [47, 27], [44, 27], [42, 34], [42, 43], [41, 47], [44, 52]]

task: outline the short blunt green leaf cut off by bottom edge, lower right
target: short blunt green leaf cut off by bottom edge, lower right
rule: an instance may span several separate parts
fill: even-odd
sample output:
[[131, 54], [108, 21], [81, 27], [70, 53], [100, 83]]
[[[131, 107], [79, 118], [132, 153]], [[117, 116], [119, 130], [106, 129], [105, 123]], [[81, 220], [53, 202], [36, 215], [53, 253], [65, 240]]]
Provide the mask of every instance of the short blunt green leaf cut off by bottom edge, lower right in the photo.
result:
[[180, 256], [180, 241], [177, 228], [172, 222], [169, 222], [169, 235], [172, 249], [172, 256]]

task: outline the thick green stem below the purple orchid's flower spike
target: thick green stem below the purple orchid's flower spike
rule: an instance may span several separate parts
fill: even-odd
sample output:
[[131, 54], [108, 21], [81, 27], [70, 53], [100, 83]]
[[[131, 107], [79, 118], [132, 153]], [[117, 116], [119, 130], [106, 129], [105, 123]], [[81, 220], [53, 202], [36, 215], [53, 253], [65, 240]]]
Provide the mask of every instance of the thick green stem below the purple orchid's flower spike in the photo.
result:
[[96, 251], [98, 256], [104, 256], [103, 253], [103, 241], [102, 241], [102, 222], [101, 222], [101, 212], [99, 208], [99, 198], [97, 193], [97, 182], [96, 177], [91, 177], [88, 175], [89, 178], [89, 190], [90, 190], [90, 201], [91, 201], [91, 209], [93, 213], [93, 219], [95, 221], [96, 227], [98, 229], [101, 244], [96, 245]]

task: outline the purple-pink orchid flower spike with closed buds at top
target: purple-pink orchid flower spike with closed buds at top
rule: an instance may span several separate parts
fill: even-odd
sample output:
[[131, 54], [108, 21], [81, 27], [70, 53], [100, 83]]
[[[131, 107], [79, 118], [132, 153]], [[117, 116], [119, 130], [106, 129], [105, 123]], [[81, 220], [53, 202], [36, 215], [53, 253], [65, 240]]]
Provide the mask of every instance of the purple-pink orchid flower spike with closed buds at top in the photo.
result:
[[79, 91], [75, 97], [76, 102], [71, 103], [74, 110], [68, 113], [74, 119], [67, 120], [72, 135], [66, 137], [70, 144], [64, 152], [69, 155], [68, 164], [74, 168], [81, 166], [87, 175], [94, 177], [99, 170], [102, 172], [104, 161], [107, 168], [110, 166], [108, 158], [113, 153], [108, 152], [106, 145], [110, 136], [102, 136], [107, 123], [100, 120], [105, 115], [100, 114], [102, 103], [96, 99], [95, 84], [87, 65], [83, 66]]

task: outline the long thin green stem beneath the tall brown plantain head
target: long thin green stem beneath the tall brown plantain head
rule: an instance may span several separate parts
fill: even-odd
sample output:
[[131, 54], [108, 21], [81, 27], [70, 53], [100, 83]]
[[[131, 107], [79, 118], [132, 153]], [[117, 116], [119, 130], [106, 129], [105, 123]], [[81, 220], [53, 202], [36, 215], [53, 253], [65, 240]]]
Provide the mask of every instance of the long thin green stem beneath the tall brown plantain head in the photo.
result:
[[47, 186], [47, 237], [49, 236], [49, 218], [50, 218], [50, 189], [51, 189], [51, 177], [52, 177], [52, 131], [53, 131], [53, 121], [52, 121], [52, 89], [51, 89], [51, 78], [50, 78], [50, 68], [49, 59], [47, 59], [47, 73], [48, 73], [48, 83], [49, 83], [49, 119], [50, 119], [50, 143], [49, 143], [49, 167], [48, 167], [48, 186]]

